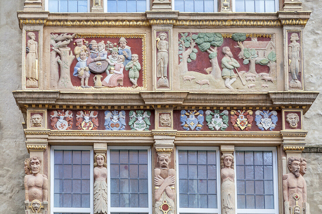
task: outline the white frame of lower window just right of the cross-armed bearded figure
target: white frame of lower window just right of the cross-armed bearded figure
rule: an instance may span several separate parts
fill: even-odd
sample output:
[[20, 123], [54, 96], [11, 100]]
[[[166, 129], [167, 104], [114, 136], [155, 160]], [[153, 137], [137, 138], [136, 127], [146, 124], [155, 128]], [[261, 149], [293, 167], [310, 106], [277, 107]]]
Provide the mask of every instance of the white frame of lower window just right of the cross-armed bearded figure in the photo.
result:
[[[180, 208], [179, 204], [179, 150], [201, 150], [216, 151], [216, 170], [217, 170], [217, 209], [214, 208]], [[219, 147], [176, 147], [176, 197], [177, 197], [177, 213], [198, 213], [198, 214], [220, 214], [221, 213], [221, 190], [220, 190], [220, 157]]]

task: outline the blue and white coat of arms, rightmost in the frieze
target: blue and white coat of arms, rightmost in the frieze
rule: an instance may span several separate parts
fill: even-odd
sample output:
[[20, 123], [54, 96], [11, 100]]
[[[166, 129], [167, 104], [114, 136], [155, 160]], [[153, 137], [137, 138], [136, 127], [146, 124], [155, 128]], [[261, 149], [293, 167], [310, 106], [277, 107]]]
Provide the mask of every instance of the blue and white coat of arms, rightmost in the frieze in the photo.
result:
[[255, 122], [260, 130], [270, 129], [271, 131], [275, 128], [278, 117], [276, 111], [255, 111]]

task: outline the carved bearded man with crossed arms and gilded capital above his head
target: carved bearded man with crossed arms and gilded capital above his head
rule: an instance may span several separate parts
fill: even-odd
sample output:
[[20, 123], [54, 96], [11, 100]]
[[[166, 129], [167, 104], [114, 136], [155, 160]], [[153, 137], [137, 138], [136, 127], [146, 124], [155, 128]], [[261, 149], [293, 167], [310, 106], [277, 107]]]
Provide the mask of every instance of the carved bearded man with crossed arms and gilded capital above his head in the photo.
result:
[[156, 148], [155, 213], [167, 214], [175, 210], [175, 169], [170, 168], [172, 152], [173, 148]]

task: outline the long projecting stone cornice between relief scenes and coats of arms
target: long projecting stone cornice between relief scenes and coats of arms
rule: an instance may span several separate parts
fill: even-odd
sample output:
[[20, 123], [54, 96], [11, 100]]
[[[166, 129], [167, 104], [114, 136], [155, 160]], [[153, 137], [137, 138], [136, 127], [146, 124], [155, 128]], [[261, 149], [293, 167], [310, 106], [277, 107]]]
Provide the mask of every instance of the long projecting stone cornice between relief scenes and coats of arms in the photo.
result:
[[[74, 106], [77, 108], [105, 106], [153, 106], [166, 108], [175, 106], [225, 106], [228, 108], [295, 106], [308, 111], [319, 92], [268, 92], [268, 93], [189, 93], [188, 91], [142, 91], [139, 93], [81, 93], [60, 91], [14, 91], [17, 105], [23, 110], [25, 105]], [[103, 107], [104, 108], [103, 108]], [[33, 107], [33, 106], [31, 106]], [[36, 107], [36, 106], [35, 106]], [[38, 107], [38, 106], [37, 106]], [[50, 107], [52, 108], [52, 107]]]

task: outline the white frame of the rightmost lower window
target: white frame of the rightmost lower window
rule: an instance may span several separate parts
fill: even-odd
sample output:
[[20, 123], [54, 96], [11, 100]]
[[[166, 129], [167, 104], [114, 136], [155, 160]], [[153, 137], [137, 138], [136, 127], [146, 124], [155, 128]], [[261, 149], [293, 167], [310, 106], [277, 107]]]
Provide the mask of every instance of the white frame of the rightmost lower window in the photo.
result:
[[[271, 151], [273, 160], [273, 194], [274, 194], [274, 209], [238, 209], [237, 207], [237, 178], [235, 176], [235, 204], [237, 214], [278, 214], [278, 174], [277, 174], [277, 149], [276, 147], [235, 147], [234, 157], [236, 151]], [[236, 174], [236, 161], [234, 161], [234, 171]]]

